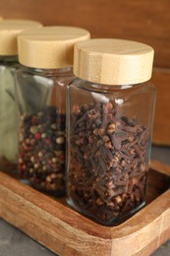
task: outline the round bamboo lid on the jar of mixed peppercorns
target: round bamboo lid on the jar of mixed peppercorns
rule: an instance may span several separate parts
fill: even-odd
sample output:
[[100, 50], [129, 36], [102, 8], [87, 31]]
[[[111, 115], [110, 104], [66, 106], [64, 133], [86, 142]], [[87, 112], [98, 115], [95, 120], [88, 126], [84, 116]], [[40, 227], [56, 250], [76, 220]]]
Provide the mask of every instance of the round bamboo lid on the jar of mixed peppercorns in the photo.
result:
[[57, 69], [73, 65], [74, 44], [90, 37], [74, 27], [43, 27], [18, 37], [19, 61], [28, 67]]

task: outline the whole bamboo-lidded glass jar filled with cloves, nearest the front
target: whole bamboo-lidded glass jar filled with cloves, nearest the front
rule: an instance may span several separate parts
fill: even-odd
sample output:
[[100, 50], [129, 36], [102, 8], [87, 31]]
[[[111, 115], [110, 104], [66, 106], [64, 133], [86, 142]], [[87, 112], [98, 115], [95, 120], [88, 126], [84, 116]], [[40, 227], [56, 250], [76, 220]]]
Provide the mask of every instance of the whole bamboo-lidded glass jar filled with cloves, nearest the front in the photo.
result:
[[147, 82], [152, 61], [153, 49], [140, 42], [75, 45], [67, 202], [99, 224], [120, 224], [145, 204], [156, 94]]

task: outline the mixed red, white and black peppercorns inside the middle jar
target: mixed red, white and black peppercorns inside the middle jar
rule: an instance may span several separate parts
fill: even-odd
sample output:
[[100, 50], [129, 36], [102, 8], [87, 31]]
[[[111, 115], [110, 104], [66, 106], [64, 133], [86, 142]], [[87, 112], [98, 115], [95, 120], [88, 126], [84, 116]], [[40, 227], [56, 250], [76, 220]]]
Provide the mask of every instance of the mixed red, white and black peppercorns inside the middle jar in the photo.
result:
[[21, 116], [19, 139], [20, 176], [39, 189], [63, 193], [65, 122], [54, 106]]

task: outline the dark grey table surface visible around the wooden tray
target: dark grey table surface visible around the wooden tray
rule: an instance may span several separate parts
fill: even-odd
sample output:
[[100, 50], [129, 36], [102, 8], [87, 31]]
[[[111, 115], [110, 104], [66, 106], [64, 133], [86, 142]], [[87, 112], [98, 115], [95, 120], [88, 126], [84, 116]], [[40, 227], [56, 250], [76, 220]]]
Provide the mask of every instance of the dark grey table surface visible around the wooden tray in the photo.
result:
[[[152, 147], [151, 159], [170, 164], [170, 148], [155, 146]], [[44, 248], [39, 243], [32, 240], [30, 237], [28, 237], [26, 234], [11, 224], [7, 224], [0, 219], [0, 256], [52, 255], [56, 254], [52, 253], [47, 248]], [[160, 248], [158, 248], [154, 253], [152, 253], [152, 256], [170, 256], [170, 239]]]

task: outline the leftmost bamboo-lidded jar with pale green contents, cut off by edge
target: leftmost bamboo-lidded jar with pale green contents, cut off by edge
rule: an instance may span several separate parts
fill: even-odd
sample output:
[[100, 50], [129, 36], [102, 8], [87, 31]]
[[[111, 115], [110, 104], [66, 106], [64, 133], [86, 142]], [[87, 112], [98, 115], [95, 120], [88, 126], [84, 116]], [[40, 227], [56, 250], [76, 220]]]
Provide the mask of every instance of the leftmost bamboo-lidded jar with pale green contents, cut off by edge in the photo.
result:
[[0, 23], [0, 169], [17, 170], [17, 121], [15, 105], [15, 71], [18, 62], [17, 34], [41, 24], [25, 20]]

